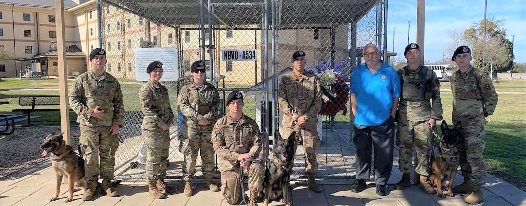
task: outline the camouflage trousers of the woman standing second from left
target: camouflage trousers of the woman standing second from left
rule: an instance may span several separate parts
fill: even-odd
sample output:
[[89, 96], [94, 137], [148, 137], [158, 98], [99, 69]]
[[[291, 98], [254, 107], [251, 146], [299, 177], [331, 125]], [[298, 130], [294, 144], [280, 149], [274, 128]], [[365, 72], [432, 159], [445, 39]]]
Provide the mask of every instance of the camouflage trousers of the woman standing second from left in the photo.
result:
[[146, 146], [146, 182], [156, 182], [166, 176], [170, 132], [160, 128], [143, 128]]

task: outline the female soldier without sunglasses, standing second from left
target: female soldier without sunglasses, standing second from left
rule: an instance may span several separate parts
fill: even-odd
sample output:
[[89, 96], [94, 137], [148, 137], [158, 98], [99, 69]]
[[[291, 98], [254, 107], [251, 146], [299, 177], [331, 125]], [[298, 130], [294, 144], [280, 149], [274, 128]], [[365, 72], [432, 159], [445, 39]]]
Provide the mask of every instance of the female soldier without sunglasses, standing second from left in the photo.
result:
[[144, 114], [141, 130], [146, 145], [146, 182], [148, 195], [161, 199], [165, 197], [164, 192], [175, 191], [175, 188], [164, 182], [174, 112], [171, 110], [168, 89], [159, 82], [163, 77], [163, 63], [153, 61], [148, 65], [146, 73], [150, 79], [139, 90]]

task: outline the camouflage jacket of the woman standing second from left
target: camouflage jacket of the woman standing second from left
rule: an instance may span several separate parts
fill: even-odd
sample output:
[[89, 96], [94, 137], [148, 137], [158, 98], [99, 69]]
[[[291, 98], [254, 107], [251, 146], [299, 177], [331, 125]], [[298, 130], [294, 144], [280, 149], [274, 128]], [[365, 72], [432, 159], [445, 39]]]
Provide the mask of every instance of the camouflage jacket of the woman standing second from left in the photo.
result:
[[139, 90], [144, 119], [143, 128], [162, 128], [174, 120], [168, 89], [160, 83], [148, 81]]

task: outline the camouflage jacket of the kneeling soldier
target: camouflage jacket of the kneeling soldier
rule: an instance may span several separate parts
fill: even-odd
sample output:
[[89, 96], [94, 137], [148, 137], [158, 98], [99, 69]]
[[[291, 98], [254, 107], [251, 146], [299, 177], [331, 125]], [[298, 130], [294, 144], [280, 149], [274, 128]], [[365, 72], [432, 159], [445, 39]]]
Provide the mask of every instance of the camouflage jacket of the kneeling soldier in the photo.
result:
[[251, 153], [257, 158], [261, 152], [260, 134], [256, 121], [246, 115], [237, 123], [229, 115], [218, 119], [212, 130], [212, 144], [219, 171], [234, 171], [239, 164], [239, 154]]

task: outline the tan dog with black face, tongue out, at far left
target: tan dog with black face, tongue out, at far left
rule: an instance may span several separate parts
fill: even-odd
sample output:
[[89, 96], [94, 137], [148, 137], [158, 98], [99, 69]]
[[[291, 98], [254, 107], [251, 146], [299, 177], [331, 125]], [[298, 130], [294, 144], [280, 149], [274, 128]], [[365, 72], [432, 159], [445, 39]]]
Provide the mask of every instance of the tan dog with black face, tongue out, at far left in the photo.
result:
[[46, 157], [49, 154], [52, 167], [55, 169], [57, 181], [55, 196], [50, 198], [49, 201], [58, 198], [60, 184], [62, 184], [62, 178], [65, 176], [65, 182], [68, 183], [69, 189], [65, 202], [69, 202], [73, 200], [73, 192], [76, 189], [86, 190], [86, 179], [84, 178], [84, 160], [73, 151], [71, 146], [66, 145], [62, 135], [63, 133], [59, 135], [50, 133], [40, 147], [44, 149], [41, 156]]

